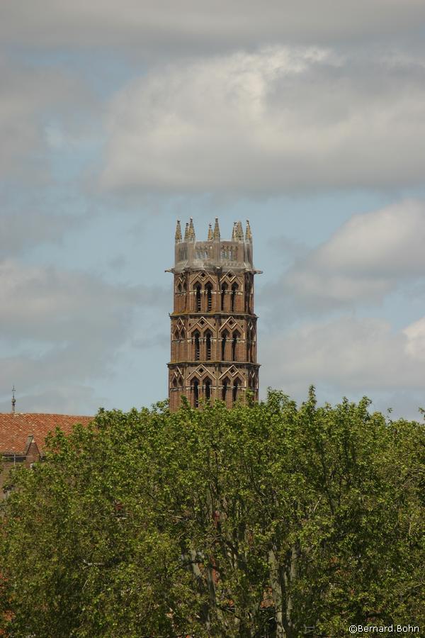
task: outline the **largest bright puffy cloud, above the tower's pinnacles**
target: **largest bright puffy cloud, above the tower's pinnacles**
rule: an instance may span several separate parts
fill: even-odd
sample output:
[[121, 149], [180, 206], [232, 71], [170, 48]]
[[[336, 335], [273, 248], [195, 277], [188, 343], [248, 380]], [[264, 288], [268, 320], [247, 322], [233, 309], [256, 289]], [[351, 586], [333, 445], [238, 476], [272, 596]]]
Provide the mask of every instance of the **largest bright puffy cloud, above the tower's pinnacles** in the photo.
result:
[[425, 62], [267, 47], [157, 68], [115, 97], [101, 182], [282, 193], [420, 184]]

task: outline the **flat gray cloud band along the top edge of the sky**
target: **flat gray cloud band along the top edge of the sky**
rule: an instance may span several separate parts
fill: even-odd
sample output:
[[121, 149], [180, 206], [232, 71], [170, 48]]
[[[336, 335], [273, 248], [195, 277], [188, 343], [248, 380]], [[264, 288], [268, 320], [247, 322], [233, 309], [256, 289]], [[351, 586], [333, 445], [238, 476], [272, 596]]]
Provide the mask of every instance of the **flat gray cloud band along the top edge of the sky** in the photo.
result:
[[420, 33], [421, 0], [13, 0], [1, 7], [4, 43], [136, 47], [170, 52], [259, 43], [374, 40]]

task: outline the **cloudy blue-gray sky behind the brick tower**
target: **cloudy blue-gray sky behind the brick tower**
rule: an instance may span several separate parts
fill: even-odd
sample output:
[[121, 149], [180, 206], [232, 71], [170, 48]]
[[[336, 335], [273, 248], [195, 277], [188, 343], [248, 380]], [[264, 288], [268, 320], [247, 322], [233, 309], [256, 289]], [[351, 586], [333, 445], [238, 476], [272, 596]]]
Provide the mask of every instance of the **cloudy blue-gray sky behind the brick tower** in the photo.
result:
[[176, 219], [249, 219], [261, 397], [425, 407], [423, 0], [0, 4], [0, 410], [166, 398]]

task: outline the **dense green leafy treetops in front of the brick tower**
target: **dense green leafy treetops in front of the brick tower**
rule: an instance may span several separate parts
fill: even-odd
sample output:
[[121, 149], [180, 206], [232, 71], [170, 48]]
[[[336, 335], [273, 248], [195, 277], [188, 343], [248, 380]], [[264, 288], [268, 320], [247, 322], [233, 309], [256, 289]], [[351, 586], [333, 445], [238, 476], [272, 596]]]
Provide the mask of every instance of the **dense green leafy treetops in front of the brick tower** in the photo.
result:
[[232, 410], [101, 410], [58, 431], [2, 505], [4, 626], [293, 638], [425, 625], [424, 427], [369, 408], [270, 391]]

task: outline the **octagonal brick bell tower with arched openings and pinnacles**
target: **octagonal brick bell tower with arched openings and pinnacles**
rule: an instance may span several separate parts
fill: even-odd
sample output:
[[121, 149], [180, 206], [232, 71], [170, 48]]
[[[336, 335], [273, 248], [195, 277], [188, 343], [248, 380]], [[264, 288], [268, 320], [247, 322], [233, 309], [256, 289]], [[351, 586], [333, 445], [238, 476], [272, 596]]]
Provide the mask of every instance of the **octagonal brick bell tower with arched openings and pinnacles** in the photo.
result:
[[197, 408], [202, 401], [225, 401], [228, 408], [246, 390], [258, 400], [254, 274], [249, 221], [233, 225], [222, 241], [218, 220], [206, 242], [197, 242], [193, 220], [176, 228], [174, 311], [171, 313], [169, 406], [181, 396]]

